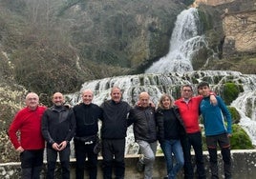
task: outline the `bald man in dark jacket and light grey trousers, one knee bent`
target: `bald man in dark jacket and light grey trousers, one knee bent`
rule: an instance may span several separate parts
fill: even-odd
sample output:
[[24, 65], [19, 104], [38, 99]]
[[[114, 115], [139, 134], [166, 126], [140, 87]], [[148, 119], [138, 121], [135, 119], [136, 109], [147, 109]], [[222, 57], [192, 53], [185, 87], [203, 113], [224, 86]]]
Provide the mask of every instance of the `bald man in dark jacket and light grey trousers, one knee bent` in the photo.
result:
[[151, 179], [153, 165], [157, 151], [157, 125], [155, 120], [155, 108], [150, 105], [148, 92], [139, 94], [139, 106], [131, 109], [128, 125], [134, 125], [135, 140], [139, 144], [142, 157], [139, 158], [137, 168], [144, 170], [144, 178]]

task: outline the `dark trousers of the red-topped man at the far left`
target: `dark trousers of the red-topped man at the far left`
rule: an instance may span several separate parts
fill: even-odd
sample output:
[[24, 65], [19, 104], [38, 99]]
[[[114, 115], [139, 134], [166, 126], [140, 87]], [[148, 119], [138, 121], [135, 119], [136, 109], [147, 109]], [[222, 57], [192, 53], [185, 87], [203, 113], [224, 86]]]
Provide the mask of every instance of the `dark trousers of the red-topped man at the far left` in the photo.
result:
[[26, 149], [20, 153], [21, 179], [39, 179], [44, 149]]

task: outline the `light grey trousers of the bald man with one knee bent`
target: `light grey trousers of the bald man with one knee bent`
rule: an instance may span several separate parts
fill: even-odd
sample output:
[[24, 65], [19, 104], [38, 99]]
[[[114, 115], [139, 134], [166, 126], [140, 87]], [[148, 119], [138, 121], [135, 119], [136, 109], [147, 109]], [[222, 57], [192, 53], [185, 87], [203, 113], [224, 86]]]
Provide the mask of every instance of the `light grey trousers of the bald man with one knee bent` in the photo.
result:
[[138, 140], [137, 143], [139, 144], [139, 149], [143, 155], [139, 162], [145, 165], [144, 179], [151, 179], [157, 152], [157, 142], [148, 143], [146, 141]]

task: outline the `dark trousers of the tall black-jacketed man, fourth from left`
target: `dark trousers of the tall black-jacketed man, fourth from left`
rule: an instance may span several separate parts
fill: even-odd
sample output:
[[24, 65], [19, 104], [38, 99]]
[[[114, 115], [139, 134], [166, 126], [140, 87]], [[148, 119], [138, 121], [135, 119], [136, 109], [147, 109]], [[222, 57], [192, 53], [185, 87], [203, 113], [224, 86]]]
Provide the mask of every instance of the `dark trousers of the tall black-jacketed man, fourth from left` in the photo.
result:
[[[116, 179], [123, 179], [125, 139], [102, 139], [103, 178], [112, 178], [113, 163], [116, 168]], [[115, 158], [115, 160], [114, 160]]]

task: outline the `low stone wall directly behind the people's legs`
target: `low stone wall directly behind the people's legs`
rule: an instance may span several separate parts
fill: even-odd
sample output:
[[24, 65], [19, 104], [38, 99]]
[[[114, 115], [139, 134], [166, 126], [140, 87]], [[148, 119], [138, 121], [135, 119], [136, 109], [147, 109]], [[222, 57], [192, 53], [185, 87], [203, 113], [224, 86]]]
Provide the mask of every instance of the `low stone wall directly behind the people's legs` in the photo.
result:
[[[203, 153], [205, 158], [205, 169], [207, 173], [207, 178], [209, 177], [209, 165], [208, 165], [208, 155], [207, 151]], [[136, 170], [136, 164], [138, 162], [139, 155], [129, 155], [126, 156], [125, 165], [125, 178], [127, 179], [139, 179], [143, 178], [143, 173], [140, 173]], [[232, 150], [232, 163], [233, 163], [233, 179], [254, 179], [256, 176], [256, 149], [253, 150]], [[101, 158], [99, 158], [98, 163], [98, 178], [102, 178], [102, 172], [100, 166], [102, 164]], [[219, 152], [219, 166], [220, 166], [220, 176], [224, 178], [223, 175], [223, 162], [222, 157]], [[41, 179], [45, 178], [45, 171], [46, 171], [46, 164], [44, 165], [44, 169], [42, 172]], [[20, 178], [20, 163], [7, 163], [7, 164], [0, 164], [0, 178], [7, 178], [7, 179], [17, 179]], [[60, 169], [59, 164], [56, 169], [56, 177], [59, 177]], [[161, 179], [165, 176], [165, 163], [164, 157], [160, 154], [157, 155], [155, 166], [154, 166], [154, 179]], [[86, 179], [88, 175], [86, 173]], [[179, 173], [179, 179], [182, 178], [182, 171]], [[75, 160], [71, 161], [71, 179], [75, 179]]]

